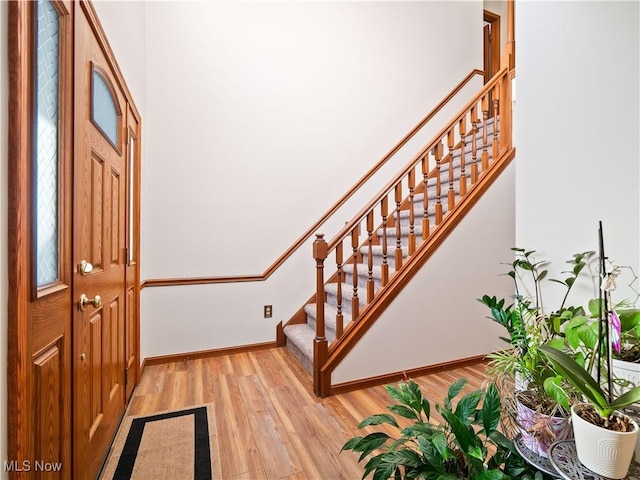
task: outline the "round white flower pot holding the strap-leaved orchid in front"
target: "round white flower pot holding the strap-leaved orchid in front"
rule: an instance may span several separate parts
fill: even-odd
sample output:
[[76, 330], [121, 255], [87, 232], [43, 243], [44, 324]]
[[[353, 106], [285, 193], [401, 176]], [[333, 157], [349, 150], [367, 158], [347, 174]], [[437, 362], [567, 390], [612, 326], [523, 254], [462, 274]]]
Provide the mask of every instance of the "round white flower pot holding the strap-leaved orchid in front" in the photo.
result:
[[[614, 432], [584, 420], [578, 412], [588, 406], [580, 403], [571, 407], [573, 433], [578, 459], [589, 470], [609, 478], [624, 478], [629, 470], [638, 439], [638, 424], [632, 420], [631, 432]], [[619, 412], [614, 415], [627, 417]]]

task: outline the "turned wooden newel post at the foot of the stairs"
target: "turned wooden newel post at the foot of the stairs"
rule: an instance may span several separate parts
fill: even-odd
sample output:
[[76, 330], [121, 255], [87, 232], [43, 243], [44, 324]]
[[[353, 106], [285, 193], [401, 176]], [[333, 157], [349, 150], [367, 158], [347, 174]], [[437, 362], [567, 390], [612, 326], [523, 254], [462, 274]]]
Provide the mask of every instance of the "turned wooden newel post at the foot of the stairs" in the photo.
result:
[[313, 390], [322, 395], [320, 369], [327, 361], [329, 346], [324, 331], [324, 261], [327, 258], [327, 242], [324, 234], [316, 234], [313, 242], [313, 258], [316, 259], [316, 338], [313, 342]]

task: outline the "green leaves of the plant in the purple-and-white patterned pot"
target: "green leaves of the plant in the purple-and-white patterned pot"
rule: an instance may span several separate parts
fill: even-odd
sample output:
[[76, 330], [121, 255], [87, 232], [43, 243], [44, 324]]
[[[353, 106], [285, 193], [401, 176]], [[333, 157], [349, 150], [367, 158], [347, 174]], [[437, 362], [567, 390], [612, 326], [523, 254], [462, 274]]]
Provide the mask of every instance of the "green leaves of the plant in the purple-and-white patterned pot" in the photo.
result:
[[[534, 392], [537, 404], [543, 413], [554, 413], [557, 405], [569, 408], [570, 392], [558, 388], [559, 380], [553, 368], [539, 348], [554, 344], [562, 348], [565, 342], [579, 349], [582, 362], [591, 361], [597, 342], [597, 332], [588, 326], [588, 317], [581, 306], [566, 306], [567, 297], [578, 277], [585, 272], [594, 252], [576, 253], [567, 261], [569, 270], [562, 273], [560, 279], [549, 279], [547, 261], [537, 261], [535, 250], [512, 248], [514, 260], [506, 273], [514, 282], [513, 302], [484, 295], [479, 298], [489, 308], [487, 318], [502, 325], [508, 337], [501, 337], [512, 348], [489, 355], [494, 375], [520, 374], [527, 381], [527, 389]], [[543, 286], [552, 282], [564, 287], [564, 296], [558, 309], [548, 312], [542, 301]], [[529, 286], [527, 289], [526, 286]], [[526, 293], [530, 292], [530, 293]], [[589, 345], [590, 347], [586, 347]]]

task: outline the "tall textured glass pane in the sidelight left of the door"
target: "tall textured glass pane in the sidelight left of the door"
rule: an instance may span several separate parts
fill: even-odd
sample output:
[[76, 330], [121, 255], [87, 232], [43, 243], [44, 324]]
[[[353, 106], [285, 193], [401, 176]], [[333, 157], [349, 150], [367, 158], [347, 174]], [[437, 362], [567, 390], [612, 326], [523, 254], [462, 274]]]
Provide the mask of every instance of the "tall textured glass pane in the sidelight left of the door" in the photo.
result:
[[58, 280], [58, 106], [59, 20], [49, 0], [38, 0], [36, 88], [36, 282], [38, 287]]

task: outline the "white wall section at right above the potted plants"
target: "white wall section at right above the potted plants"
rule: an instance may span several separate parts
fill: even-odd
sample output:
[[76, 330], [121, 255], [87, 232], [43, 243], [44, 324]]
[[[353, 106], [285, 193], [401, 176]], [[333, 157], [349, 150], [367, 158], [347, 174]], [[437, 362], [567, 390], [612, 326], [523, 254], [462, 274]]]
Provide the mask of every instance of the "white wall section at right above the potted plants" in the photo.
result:
[[[639, 7], [516, 5], [516, 241], [555, 272], [597, 250], [599, 220], [607, 255], [640, 272]], [[623, 283], [614, 301], [635, 297]]]

